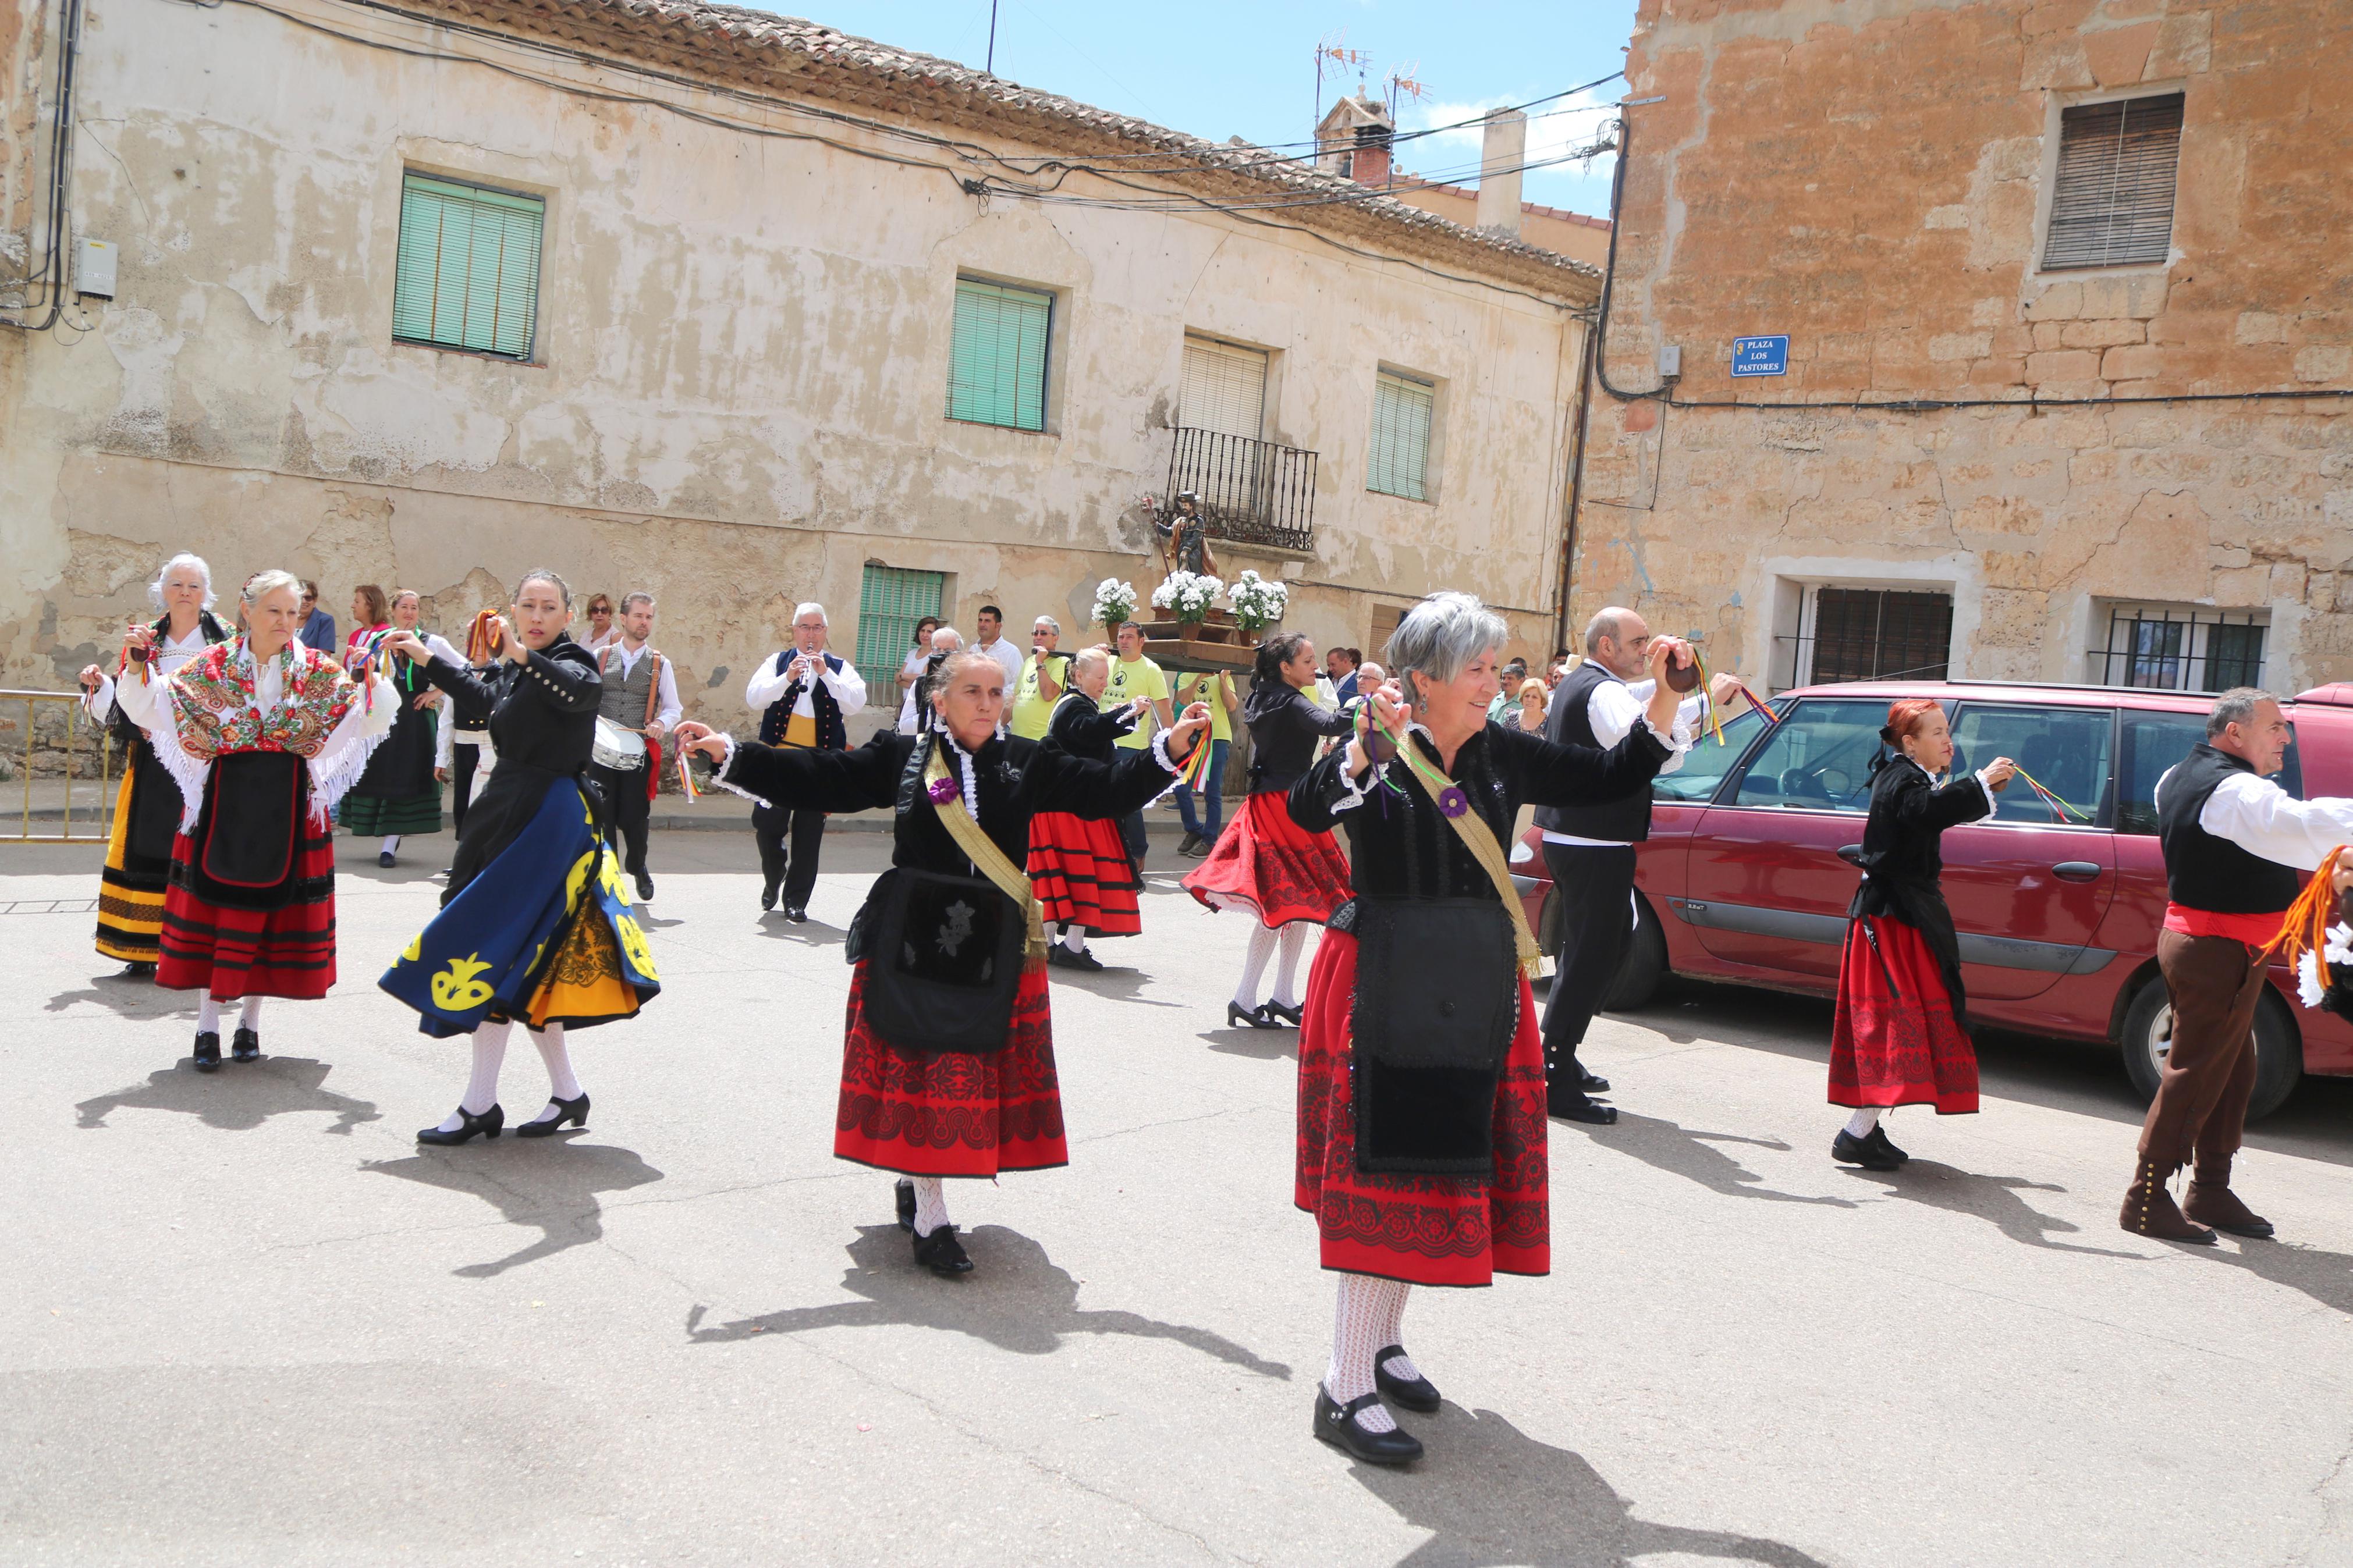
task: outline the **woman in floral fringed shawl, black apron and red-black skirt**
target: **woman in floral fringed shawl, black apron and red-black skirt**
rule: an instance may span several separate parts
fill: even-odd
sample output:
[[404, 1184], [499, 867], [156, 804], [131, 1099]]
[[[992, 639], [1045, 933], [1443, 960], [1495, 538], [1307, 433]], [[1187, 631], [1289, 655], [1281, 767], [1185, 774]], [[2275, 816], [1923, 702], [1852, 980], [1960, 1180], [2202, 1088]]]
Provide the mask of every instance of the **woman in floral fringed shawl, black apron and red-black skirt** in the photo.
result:
[[[334, 985], [329, 818], [393, 726], [400, 693], [362, 689], [327, 654], [294, 642], [301, 583], [264, 571], [245, 585], [247, 632], [169, 679], [115, 686], [184, 802], [172, 839], [155, 983], [202, 992], [195, 1070], [221, 1065], [221, 1004], [245, 999], [231, 1058], [261, 1056], [261, 999], [325, 997]], [[127, 651], [153, 656], [132, 628]]]

